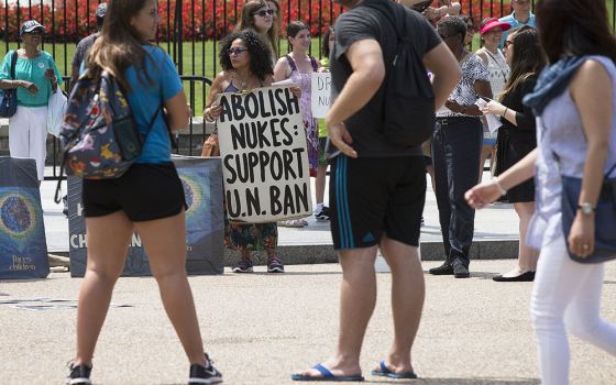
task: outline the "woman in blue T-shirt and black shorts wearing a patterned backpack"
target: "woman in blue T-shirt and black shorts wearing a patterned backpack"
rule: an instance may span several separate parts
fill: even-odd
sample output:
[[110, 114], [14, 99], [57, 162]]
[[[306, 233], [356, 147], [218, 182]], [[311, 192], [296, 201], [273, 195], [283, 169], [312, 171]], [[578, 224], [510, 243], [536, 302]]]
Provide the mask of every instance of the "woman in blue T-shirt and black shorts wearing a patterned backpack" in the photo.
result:
[[[222, 375], [204, 352], [186, 276], [186, 199], [170, 162], [169, 131], [186, 127], [190, 110], [172, 58], [150, 43], [161, 21], [158, 2], [108, 0], [107, 4], [101, 34], [90, 48], [81, 76], [97, 81], [102, 70], [114, 75], [145, 142], [138, 161], [119, 178], [84, 179], [88, 261], [77, 307], [77, 351], [66, 383], [91, 384], [97, 340], [136, 231], [166, 315], [187, 356], [188, 384], [217, 384], [222, 382]], [[143, 364], [134, 360], [131, 363], [131, 359], [134, 358], [119, 356], [116, 365]], [[121, 372], [107, 370], [109, 382], [127, 383]], [[145, 377], [143, 381], [154, 382]]]

